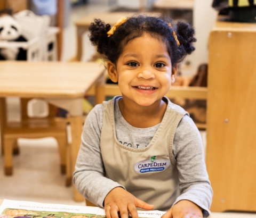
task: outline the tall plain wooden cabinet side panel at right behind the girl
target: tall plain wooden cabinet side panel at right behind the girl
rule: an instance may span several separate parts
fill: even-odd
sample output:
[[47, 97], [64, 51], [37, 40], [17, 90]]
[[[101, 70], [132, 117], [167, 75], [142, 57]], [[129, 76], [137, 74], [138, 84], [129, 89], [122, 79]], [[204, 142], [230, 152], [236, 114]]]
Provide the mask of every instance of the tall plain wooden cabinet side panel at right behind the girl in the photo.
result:
[[256, 211], [256, 24], [217, 22], [209, 39], [206, 166], [211, 211]]

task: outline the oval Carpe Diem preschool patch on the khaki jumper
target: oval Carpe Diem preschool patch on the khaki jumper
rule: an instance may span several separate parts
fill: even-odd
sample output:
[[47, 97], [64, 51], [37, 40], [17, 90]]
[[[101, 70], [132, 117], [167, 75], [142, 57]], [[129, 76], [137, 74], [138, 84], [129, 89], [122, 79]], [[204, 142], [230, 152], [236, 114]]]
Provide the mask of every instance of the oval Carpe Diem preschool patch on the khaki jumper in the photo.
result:
[[170, 160], [156, 160], [156, 156], [152, 156], [148, 161], [142, 161], [134, 166], [134, 170], [140, 173], [163, 171], [170, 165]]

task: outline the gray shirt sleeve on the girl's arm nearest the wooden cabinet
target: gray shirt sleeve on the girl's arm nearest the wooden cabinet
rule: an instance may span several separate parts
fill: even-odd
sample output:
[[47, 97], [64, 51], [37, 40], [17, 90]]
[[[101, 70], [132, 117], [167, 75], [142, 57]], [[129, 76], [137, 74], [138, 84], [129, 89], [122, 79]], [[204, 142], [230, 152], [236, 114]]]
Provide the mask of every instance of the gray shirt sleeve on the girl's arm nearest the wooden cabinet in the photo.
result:
[[181, 120], [174, 136], [173, 155], [179, 171], [181, 195], [175, 201], [189, 200], [210, 214], [212, 188], [205, 166], [201, 135], [189, 116]]

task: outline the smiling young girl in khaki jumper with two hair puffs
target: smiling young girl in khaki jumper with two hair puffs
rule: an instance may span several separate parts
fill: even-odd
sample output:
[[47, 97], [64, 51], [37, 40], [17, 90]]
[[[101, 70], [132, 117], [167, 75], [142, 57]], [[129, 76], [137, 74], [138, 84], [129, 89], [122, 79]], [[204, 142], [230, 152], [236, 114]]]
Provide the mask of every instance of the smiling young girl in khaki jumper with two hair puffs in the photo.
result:
[[136, 207], [167, 211], [163, 218], [202, 217], [212, 189], [201, 137], [188, 113], [165, 94], [178, 63], [194, 51], [194, 29], [155, 16], [100, 19], [90, 40], [107, 60], [122, 96], [87, 116], [74, 183], [107, 218], [138, 217]]

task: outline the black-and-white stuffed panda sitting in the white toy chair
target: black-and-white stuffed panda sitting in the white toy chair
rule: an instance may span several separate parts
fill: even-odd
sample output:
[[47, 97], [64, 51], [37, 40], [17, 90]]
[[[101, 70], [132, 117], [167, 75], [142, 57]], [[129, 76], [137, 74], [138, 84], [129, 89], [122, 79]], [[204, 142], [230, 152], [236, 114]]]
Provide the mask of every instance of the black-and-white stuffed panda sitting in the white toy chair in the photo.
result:
[[[11, 15], [0, 16], [0, 41], [27, 41], [22, 36], [22, 28]], [[27, 60], [27, 51], [23, 48], [1, 48], [0, 60]]]

